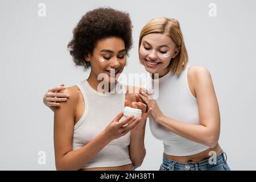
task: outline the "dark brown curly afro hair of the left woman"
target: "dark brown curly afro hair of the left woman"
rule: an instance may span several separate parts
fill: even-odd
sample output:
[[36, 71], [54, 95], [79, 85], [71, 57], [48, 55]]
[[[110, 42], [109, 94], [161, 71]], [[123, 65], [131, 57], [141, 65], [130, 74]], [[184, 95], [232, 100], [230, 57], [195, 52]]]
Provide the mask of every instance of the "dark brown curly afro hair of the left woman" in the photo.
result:
[[128, 56], [133, 45], [132, 27], [128, 13], [104, 7], [88, 11], [74, 28], [73, 38], [68, 43], [73, 61], [86, 71], [90, 62], [85, 60], [85, 56], [93, 55], [98, 40], [112, 36], [123, 40]]

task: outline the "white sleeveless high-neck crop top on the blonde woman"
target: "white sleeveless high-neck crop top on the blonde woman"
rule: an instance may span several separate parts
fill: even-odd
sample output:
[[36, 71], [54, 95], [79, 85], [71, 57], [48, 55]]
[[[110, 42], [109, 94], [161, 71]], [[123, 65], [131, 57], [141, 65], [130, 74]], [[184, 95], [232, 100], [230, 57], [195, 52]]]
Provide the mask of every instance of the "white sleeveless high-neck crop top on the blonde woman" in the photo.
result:
[[[172, 72], [159, 78], [159, 95], [156, 98], [158, 106], [162, 113], [167, 117], [181, 122], [199, 125], [199, 110], [197, 99], [192, 95], [188, 86], [187, 65], [179, 76]], [[147, 89], [152, 89], [154, 80], [148, 79]], [[156, 139], [163, 140], [164, 153], [173, 156], [188, 156], [198, 154], [207, 150], [209, 147], [204, 144], [196, 143], [191, 140], [180, 137], [159, 125], [150, 116], [150, 130]]]

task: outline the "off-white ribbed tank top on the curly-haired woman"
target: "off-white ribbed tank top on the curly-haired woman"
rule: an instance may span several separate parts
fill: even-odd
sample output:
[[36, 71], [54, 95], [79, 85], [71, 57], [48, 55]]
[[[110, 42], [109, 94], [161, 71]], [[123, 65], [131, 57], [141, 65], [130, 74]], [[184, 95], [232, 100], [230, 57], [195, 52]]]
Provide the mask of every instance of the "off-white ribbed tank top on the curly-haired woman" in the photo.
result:
[[[73, 133], [73, 150], [77, 150], [103, 131], [123, 110], [125, 93], [100, 93], [87, 80], [77, 84], [85, 102], [85, 111], [76, 123]], [[123, 118], [122, 118], [123, 119]], [[112, 140], [82, 168], [115, 167], [130, 164], [130, 132]]]

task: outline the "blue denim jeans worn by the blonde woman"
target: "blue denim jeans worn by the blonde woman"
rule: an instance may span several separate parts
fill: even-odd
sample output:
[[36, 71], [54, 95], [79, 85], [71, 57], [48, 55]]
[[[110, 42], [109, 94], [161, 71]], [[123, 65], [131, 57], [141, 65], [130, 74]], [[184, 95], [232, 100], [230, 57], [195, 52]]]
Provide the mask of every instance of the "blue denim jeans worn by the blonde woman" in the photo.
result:
[[159, 171], [230, 171], [226, 163], [226, 153], [221, 152], [215, 156], [216, 160], [206, 159], [200, 162], [179, 163], [163, 156], [163, 163]]

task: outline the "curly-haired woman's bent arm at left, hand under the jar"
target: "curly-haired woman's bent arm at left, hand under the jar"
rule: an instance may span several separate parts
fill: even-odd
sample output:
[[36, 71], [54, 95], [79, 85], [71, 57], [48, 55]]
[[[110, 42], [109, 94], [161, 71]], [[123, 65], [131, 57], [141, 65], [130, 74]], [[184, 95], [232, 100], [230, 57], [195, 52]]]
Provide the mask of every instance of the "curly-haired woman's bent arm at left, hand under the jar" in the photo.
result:
[[[69, 94], [71, 97], [67, 102], [61, 102], [60, 106], [56, 107], [54, 115], [54, 147], [57, 170], [80, 169], [109, 142], [128, 133], [140, 121], [139, 119], [133, 119], [133, 117], [127, 117], [123, 121], [119, 121], [123, 116], [123, 113], [119, 113], [96, 138], [78, 150], [73, 151], [72, 138], [79, 94], [70, 88], [61, 90], [61, 93]], [[129, 124], [126, 127], [122, 127], [127, 122]]]

